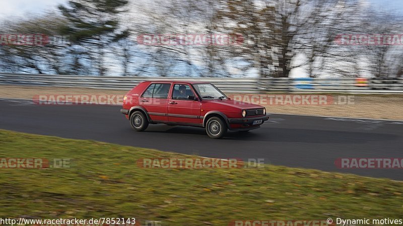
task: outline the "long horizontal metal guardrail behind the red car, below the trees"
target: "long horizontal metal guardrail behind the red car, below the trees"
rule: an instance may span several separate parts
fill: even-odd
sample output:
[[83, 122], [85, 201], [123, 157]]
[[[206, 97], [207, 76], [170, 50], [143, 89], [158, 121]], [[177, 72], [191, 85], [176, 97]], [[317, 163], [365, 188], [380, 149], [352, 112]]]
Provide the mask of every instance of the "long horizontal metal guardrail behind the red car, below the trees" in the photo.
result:
[[184, 77], [122, 77], [46, 74], [0, 73], [0, 84], [89, 87], [128, 90], [142, 81], [177, 80], [211, 82], [224, 92], [343, 92], [403, 93], [403, 78], [184, 78]]

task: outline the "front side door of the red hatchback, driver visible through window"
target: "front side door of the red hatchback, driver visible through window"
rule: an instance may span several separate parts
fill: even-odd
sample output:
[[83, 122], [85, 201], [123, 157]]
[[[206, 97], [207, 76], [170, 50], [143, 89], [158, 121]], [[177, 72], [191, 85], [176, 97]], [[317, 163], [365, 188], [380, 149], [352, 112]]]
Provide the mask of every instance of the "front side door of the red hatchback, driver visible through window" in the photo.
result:
[[200, 101], [189, 99], [188, 96], [197, 96], [190, 85], [174, 83], [168, 103], [169, 122], [201, 124]]

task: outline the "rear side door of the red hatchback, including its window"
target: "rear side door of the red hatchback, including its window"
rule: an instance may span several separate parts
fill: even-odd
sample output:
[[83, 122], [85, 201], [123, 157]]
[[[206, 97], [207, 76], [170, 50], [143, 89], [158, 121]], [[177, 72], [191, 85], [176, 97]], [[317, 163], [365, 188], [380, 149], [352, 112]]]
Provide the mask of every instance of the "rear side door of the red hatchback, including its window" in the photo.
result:
[[139, 98], [152, 121], [168, 122], [168, 94], [171, 83], [151, 83]]

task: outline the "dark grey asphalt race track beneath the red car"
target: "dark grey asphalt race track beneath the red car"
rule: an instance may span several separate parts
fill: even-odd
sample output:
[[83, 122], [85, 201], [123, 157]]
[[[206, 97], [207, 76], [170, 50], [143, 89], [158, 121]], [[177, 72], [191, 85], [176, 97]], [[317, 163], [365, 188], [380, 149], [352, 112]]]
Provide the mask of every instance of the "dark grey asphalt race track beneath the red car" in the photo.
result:
[[338, 158], [402, 158], [403, 122], [272, 114], [260, 129], [229, 132], [224, 139], [213, 140], [201, 128], [150, 125], [145, 132], [132, 131], [120, 106], [1, 99], [0, 109], [0, 129], [403, 180], [403, 169], [334, 165]]

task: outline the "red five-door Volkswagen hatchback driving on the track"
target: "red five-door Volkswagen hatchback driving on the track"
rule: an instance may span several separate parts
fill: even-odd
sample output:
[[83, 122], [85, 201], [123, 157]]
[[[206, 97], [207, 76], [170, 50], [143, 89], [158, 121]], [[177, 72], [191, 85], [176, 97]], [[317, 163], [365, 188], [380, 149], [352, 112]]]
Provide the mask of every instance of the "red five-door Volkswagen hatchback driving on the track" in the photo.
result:
[[136, 131], [158, 123], [194, 126], [206, 128], [214, 139], [227, 130], [257, 129], [268, 120], [263, 106], [232, 100], [204, 82], [141, 82], [125, 94], [120, 112]]

